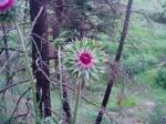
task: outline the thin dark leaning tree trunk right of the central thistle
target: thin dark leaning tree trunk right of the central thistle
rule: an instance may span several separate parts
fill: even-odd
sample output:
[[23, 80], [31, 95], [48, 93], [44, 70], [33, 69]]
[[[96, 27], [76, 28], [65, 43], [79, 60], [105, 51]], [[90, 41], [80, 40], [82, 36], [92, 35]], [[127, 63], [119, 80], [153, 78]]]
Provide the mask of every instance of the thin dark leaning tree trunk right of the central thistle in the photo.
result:
[[102, 102], [102, 106], [101, 106], [101, 110], [98, 111], [98, 115], [96, 117], [95, 124], [101, 124], [101, 122], [102, 122], [102, 118], [103, 118], [103, 115], [104, 115], [104, 110], [105, 110], [106, 104], [108, 102], [110, 94], [111, 94], [111, 91], [112, 91], [112, 87], [113, 87], [113, 84], [114, 84], [114, 79], [115, 79], [115, 75], [116, 75], [116, 66], [120, 62], [122, 51], [123, 51], [124, 41], [125, 41], [126, 34], [127, 34], [132, 4], [133, 4], [133, 0], [128, 0], [126, 17], [125, 17], [124, 27], [123, 27], [123, 32], [122, 32], [122, 37], [121, 37], [121, 40], [120, 40], [118, 50], [117, 50], [117, 53], [116, 53], [116, 56], [115, 56], [114, 66], [111, 71], [111, 73], [110, 73], [107, 87], [106, 87], [105, 95], [104, 95], [104, 99], [103, 99], [103, 102]]

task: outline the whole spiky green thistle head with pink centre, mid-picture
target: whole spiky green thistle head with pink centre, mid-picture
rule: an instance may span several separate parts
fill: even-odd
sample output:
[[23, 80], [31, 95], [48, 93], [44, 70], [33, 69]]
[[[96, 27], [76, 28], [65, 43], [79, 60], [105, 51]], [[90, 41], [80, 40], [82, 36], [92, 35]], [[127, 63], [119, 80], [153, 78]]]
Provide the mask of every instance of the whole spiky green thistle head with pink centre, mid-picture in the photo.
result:
[[104, 72], [106, 55], [97, 41], [83, 39], [68, 44], [62, 58], [64, 70], [74, 80], [83, 80], [85, 85], [92, 80], [97, 80], [98, 74]]

